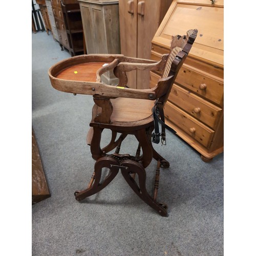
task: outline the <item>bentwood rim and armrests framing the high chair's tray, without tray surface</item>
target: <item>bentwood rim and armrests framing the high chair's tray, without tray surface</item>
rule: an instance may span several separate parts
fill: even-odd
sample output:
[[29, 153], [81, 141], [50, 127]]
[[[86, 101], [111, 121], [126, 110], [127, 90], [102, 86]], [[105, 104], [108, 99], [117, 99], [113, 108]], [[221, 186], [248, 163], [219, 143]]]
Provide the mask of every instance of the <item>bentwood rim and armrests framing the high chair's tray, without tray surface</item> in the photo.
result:
[[[105, 97], [105, 98], [138, 98], [138, 99], [156, 99], [156, 92], [152, 89], [147, 90], [138, 90], [132, 88], [125, 88], [121, 86], [109, 86], [100, 81], [100, 75], [106, 71], [111, 70], [112, 68], [117, 68], [117, 66], [122, 62], [131, 61], [136, 67], [138, 64], [146, 65], [145, 67], [150, 67], [154, 69], [159, 67], [161, 61], [154, 61], [148, 59], [139, 59], [139, 58], [131, 58], [126, 57], [121, 54], [88, 54], [88, 55], [80, 55], [71, 57], [65, 60], [61, 60], [55, 65], [53, 65], [49, 71], [49, 78], [53, 88], [62, 92], [68, 92], [73, 94], [87, 94], [93, 95], [95, 97]], [[140, 63], [136, 62], [140, 61]], [[101, 67], [97, 73], [97, 81], [79, 81], [79, 80], [66, 80], [58, 78], [58, 74], [74, 65], [79, 65], [81, 63], [87, 62], [111, 62], [109, 65]], [[149, 66], [148, 66], [149, 65]], [[133, 65], [132, 65], [133, 66]], [[134, 67], [133, 66], [133, 67]], [[140, 66], [140, 68], [143, 68]]]

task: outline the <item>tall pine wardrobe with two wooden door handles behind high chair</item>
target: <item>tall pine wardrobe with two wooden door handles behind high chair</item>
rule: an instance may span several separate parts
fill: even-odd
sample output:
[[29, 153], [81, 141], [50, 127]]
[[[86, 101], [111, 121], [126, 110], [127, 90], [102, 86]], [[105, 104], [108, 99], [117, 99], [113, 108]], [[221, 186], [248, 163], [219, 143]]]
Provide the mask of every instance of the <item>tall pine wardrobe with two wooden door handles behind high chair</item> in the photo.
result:
[[[119, 0], [121, 53], [150, 59], [151, 41], [172, 0]], [[150, 72], [127, 73], [128, 86], [148, 88]]]

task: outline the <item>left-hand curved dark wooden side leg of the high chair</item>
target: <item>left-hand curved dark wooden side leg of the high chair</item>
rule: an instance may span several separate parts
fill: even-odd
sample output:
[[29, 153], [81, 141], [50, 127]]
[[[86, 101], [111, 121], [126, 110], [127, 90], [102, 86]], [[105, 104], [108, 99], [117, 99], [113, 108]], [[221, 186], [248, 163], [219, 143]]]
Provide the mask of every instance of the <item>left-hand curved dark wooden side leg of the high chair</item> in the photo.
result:
[[[108, 176], [104, 179], [103, 182], [100, 183], [102, 168], [109, 168], [110, 172]], [[117, 160], [111, 157], [102, 157], [96, 161], [94, 166], [94, 182], [90, 184], [87, 189], [82, 191], [75, 191], [75, 198], [77, 201], [83, 200], [87, 197], [90, 197], [96, 193], [98, 193], [101, 189], [107, 186], [118, 174], [119, 172], [119, 163]]]

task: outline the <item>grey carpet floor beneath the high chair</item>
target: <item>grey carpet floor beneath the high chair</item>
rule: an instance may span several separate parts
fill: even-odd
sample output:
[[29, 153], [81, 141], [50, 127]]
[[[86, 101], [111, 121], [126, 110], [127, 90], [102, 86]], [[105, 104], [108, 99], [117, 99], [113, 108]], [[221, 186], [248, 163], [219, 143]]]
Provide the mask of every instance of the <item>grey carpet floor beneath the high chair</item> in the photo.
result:
[[[86, 144], [93, 99], [52, 88], [48, 69], [68, 57], [52, 35], [32, 34], [32, 125], [51, 193], [32, 206], [32, 255], [223, 255], [223, 154], [205, 163], [171, 133], [166, 146], [155, 146], [170, 162], [158, 191], [168, 217], [141, 201], [121, 174], [97, 195], [75, 200], [95, 163]], [[132, 137], [124, 142], [123, 152], [137, 147]], [[155, 167], [153, 160], [150, 192]]]

